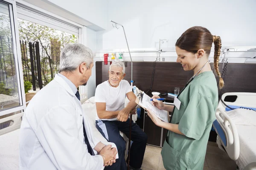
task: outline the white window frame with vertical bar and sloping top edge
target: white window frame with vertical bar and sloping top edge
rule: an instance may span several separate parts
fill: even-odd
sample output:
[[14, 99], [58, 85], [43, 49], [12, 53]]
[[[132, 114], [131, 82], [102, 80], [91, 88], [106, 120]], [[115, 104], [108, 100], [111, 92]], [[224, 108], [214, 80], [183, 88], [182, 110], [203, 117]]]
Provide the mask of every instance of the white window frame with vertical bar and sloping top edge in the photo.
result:
[[[67, 20], [64, 17], [61, 17], [59, 15], [53, 14], [49, 11], [46, 11], [38, 6], [32, 5], [24, 0], [1, 0], [4, 3], [9, 3], [9, 7], [12, 7], [12, 12], [10, 12], [10, 19], [11, 19], [11, 29], [12, 29], [12, 37], [13, 37], [13, 52], [14, 52], [14, 58], [15, 58], [15, 71], [16, 71], [16, 77], [17, 77], [17, 87], [18, 87], [18, 94], [19, 94], [19, 101], [20, 105], [15, 106], [12, 108], [6, 108], [3, 110], [0, 110], [0, 116], [17, 112], [17, 111], [25, 111], [26, 110], [26, 98], [25, 98], [25, 89], [24, 89], [24, 80], [23, 80], [23, 72], [22, 72], [22, 61], [21, 61], [21, 52], [20, 52], [20, 44], [17, 42], [20, 42], [19, 38], [19, 29], [18, 29], [18, 24], [17, 24], [17, 18], [18, 18], [18, 13], [17, 13], [17, 6], [26, 6], [31, 9], [33, 9], [33, 12], [37, 11], [38, 14], [46, 14], [47, 16], [52, 16], [55, 20], [59, 22], [63, 22], [64, 24], [70, 24], [71, 26], [75, 26], [78, 28], [78, 36], [79, 40], [78, 42], [81, 44], [86, 45], [86, 28], [85, 26], [82, 26], [78, 23], [75, 23], [73, 21]], [[60, 25], [61, 26], [61, 25]], [[67, 31], [67, 33], [70, 33]], [[87, 91], [87, 87], [84, 90]]]

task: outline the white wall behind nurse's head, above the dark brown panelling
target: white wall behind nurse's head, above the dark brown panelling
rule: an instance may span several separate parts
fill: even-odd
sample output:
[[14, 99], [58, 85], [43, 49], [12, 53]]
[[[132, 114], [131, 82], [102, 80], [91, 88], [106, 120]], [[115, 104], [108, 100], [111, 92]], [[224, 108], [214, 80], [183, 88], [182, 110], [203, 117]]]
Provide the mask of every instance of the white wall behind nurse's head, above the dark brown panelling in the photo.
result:
[[180, 35], [192, 26], [204, 26], [221, 37], [222, 46], [256, 45], [255, 0], [109, 0], [106, 31], [97, 32], [97, 51], [126, 48], [173, 48]]

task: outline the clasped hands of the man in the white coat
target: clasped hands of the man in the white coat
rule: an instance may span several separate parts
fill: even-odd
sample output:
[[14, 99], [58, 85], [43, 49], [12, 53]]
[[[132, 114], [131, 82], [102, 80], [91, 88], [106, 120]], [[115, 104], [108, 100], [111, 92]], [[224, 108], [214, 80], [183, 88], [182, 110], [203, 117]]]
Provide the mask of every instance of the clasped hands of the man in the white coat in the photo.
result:
[[117, 150], [115, 147], [111, 148], [111, 145], [107, 145], [102, 148], [102, 150], [99, 152], [100, 155], [103, 155], [102, 157], [104, 159], [104, 166], [112, 165], [116, 162], [116, 154]]

